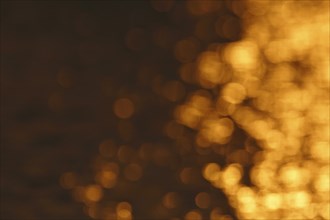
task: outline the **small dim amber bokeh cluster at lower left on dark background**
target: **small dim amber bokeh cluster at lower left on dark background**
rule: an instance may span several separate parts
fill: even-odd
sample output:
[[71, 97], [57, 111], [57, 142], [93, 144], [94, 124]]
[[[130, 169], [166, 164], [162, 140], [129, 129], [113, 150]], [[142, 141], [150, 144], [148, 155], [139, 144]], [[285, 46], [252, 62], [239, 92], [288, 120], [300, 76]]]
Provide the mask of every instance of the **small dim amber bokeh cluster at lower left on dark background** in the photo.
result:
[[[82, 202], [85, 213], [93, 219], [129, 220], [133, 218], [128, 202], [108, 201], [107, 191], [118, 190], [118, 182], [136, 182], [143, 175], [141, 155], [134, 157], [133, 149], [126, 145], [117, 146], [111, 139], [99, 145], [99, 156], [93, 161], [94, 182], [87, 183], [73, 172], [60, 178], [63, 188], [71, 189], [73, 198]], [[120, 189], [119, 189], [120, 190]]]

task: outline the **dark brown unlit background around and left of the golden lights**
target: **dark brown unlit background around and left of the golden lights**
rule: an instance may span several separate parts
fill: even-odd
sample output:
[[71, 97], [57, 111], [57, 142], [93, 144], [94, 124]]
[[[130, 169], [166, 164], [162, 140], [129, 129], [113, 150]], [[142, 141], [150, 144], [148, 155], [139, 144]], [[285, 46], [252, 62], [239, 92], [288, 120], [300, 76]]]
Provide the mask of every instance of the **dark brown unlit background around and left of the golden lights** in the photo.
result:
[[[176, 181], [184, 165], [200, 169], [205, 162], [225, 161], [196, 153], [182, 158], [163, 132], [180, 100], [168, 101], [155, 86], [180, 80], [173, 46], [193, 34], [197, 21], [183, 1], [171, 13], [157, 12], [149, 1], [1, 2], [1, 219], [88, 219], [59, 178], [66, 171], [88, 178], [91, 159], [106, 138], [133, 148], [157, 143], [172, 152], [174, 166], [151, 164], [141, 182], [128, 186], [129, 195], [114, 194], [116, 200], [132, 203], [135, 219], [156, 218], [150, 210], [158, 194], [141, 198], [137, 193], [147, 188], [180, 192], [184, 205], [177, 216], [194, 208], [194, 196], [202, 190], [214, 195], [215, 207], [233, 216], [224, 195], [205, 180], [192, 186]], [[231, 15], [223, 7], [207, 19], [219, 13]], [[152, 42], [160, 26], [171, 33], [163, 48]], [[132, 28], [143, 30], [136, 50], [125, 45]], [[213, 41], [230, 40], [212, 32], [200, 40], [201, 49]], [[188, 92], [196, 87], [185, 86]], [[121, 96], [137, 100], [130, 120], [134, 132], [128, 138], [118, 132], [112, 111]], [[193, 132], [186, 131], [193, 140]]]

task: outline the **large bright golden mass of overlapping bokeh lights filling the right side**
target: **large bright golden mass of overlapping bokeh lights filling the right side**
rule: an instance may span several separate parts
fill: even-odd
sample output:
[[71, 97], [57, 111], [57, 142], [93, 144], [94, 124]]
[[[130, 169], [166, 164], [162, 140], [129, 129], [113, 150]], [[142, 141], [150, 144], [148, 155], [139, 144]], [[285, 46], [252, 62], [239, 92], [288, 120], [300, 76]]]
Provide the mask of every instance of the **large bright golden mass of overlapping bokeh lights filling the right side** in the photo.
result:
[[[245, 11], [237, 2], [232, 7], [244, 22], [242, 40], [210, 45], [194, 63], [177, 57], [181, 78], [205, 89], [177, 107], [177, 121], [198, 131], [199, 147], [228, 143], [234, 126], [257, 141], [262, 150], [253, 158], [252, 186], [241, 181], [241, 164], [203, 169], [238, 218], [329, 219], [329, 2], [251, 0]], [[192, 218], [200, 213], [188, 212]]]

